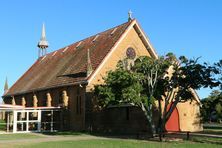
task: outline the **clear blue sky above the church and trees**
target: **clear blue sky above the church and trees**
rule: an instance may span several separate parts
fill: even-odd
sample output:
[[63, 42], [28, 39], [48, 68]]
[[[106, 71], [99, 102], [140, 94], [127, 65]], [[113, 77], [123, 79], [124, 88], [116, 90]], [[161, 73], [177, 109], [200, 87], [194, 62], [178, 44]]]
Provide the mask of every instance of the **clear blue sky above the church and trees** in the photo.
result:
[[54, 51], [126, 22], [128, 10], [159, 55], [222, 59], [221, 0], [1, 0], [0, 94], [6, 76], [12, 86], [37, 59], [43, 22]]

